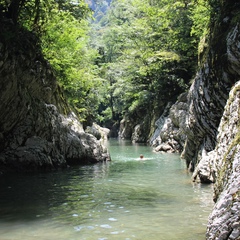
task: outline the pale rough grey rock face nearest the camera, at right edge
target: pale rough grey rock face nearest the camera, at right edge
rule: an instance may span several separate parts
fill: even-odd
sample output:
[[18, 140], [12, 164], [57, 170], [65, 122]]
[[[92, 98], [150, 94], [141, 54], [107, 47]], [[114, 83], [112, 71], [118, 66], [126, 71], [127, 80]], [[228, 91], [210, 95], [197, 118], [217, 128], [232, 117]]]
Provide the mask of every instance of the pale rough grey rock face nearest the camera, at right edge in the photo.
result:
[[230, 92], [219, 126], [216, 149], [215, 201], [207, 239], [240, 239], [240, 81]]

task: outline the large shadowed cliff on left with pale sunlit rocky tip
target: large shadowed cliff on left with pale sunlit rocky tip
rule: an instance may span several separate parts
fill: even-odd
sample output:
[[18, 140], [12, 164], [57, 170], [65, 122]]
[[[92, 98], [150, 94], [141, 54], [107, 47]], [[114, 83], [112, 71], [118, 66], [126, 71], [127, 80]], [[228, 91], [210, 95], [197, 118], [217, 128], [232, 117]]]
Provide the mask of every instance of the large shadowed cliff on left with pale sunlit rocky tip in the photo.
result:
[[32, 171], [109, 159], [68, 106], [37, 38], [0, 25], [0, 171]]

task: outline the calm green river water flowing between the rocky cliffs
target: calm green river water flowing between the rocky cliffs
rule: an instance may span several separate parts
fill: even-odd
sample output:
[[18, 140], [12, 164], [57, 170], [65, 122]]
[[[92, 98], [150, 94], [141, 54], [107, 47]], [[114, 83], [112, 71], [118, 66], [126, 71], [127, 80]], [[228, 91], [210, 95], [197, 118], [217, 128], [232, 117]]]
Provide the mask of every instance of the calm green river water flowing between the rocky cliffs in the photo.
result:
[[211, 185], [192, 184], [178, 155], [109, 149], [112, 162], [1, 176], [0, 239], [205, 239]]

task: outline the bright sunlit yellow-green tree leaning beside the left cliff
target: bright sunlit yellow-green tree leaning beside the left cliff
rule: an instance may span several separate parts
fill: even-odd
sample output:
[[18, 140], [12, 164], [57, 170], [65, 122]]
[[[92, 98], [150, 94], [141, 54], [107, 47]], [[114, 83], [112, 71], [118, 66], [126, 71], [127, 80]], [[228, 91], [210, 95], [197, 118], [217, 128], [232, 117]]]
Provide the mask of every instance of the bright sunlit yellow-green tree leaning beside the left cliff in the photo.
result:
[[69, 102], [83, 122], [96, 117], [98, 108], [98, 53], [88, 47], [89, 21], [79, 21], [69, 11], [55, 10], [44, 28], [42, 49], [53, 66]]

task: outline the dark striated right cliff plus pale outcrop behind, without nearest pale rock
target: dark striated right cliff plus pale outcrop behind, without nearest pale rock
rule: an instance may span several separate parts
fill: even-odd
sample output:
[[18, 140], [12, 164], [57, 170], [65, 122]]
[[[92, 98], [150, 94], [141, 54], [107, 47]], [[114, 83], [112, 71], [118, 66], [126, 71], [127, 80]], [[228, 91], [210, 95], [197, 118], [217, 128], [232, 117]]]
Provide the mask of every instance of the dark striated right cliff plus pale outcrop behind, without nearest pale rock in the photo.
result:
[[156, 149], [164, 150], [163, 145], [170, 149], [166, 147], [168, 139], [172, 141], [171, 136], [175, 136], [176, 143], [171, 151], [179, 151], [182, 147], [182, 157], [189, 169], [195, 170], [194, 179], [201, 182], [216, 180], [212, 164], [201, 160], [207, 159], [216, 147], [218, 127], [229, 91], [240, 79], [240, 3], [216, 1], [215, 4], [211, 34], [204, 44], [207, 47], [200, 55], [199, 71], [187, 100], [178, 100], [165, 120], [161, 117], [156, 122], [157, 129], [151, 138]]

